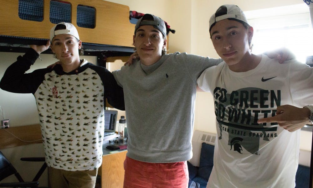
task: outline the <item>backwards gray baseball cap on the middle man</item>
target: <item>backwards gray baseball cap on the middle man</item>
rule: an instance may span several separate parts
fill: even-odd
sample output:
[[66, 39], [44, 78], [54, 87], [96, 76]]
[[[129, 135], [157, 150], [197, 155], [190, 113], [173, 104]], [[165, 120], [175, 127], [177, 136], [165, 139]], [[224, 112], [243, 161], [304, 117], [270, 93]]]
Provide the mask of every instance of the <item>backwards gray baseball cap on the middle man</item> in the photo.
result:
[[135, 32], [134, 32], [135, 35], [136, 35], [137, 29], [141, 25], [152, 25], [154, 28], [156, 28], [159, 31], [161, 31], [163, 36], [166, 37], [165, 23], [164, 23], [164, 21], [161, 18], [159, 18], [159, 17], [157, 17], [155, 15], [152, 15], [152, 14], [145, 14], [145, 15], [143, 15], [136, 23]]

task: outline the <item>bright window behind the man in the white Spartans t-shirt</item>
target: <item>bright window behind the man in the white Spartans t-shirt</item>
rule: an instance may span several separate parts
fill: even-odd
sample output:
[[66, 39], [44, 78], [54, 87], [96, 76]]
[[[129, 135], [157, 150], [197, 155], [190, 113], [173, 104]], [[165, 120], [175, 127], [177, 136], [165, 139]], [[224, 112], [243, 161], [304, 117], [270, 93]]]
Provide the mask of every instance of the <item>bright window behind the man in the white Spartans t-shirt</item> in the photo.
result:
[[307, 56], [313, 55], [310, 13], [305, 3], [246, 11], [245, 14], [254, 28], [254, 54], [286, 47], [303, 63]]

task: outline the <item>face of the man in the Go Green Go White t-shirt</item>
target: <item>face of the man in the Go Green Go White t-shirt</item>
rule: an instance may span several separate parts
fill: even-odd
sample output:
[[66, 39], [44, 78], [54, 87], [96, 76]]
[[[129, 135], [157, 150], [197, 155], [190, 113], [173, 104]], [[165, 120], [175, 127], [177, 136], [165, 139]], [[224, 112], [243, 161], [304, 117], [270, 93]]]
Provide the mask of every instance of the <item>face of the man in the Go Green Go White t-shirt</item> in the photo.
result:
[[251, 55], [249, 40], [253, 36], [252, 27], [246, 29], [238, 21], [223, 19], [212, 27], [210, 34], [216, 52], [231, 70], [249, 63], [247, 58]]

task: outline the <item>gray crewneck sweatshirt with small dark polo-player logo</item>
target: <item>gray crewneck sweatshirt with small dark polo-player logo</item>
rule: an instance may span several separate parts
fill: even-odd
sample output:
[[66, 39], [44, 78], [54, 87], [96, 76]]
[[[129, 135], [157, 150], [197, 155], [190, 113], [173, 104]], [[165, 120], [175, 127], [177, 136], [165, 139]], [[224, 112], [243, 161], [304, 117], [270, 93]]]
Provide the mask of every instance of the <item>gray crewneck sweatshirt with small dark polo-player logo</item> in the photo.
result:
[[151, 163], [192, 158], [197, 78], [220, 62], [176, 52], [150, 66], [137, 61], [112, 72], [124, 89], [128, 157]]

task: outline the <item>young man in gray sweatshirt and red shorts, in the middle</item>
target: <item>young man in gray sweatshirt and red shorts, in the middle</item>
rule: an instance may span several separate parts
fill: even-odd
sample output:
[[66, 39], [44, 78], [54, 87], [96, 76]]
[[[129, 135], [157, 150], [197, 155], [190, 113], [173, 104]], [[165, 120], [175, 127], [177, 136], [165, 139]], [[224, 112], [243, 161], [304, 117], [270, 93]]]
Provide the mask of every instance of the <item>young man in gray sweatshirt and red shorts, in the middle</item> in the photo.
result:
[[124, 187], [187, 187], [197, 78], [222, 60], [165, 54], [164, 21], [151, 14], [138, 20], [134, 34], [140, 60], [112, 72], [125, 95]]

